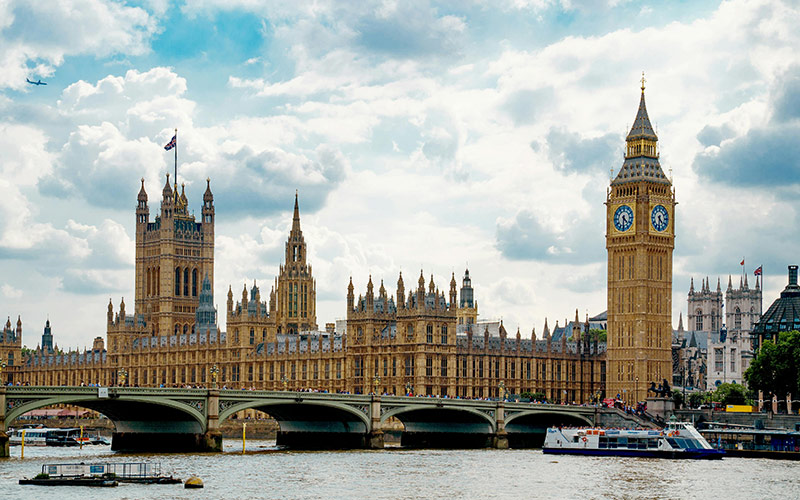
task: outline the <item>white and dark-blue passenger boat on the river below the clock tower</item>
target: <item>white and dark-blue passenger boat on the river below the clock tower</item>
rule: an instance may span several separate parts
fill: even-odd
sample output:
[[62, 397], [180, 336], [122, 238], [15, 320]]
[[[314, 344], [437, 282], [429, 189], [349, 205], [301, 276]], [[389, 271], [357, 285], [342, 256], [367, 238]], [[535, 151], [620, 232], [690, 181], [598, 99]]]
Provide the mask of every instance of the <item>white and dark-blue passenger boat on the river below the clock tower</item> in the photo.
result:
[[724, 451], [712, 448], [688, 422], [670, 422], [663, 430], [551, 427], [547, 429], [542, 451], [649, 458], [719, 459], [725, 455]]

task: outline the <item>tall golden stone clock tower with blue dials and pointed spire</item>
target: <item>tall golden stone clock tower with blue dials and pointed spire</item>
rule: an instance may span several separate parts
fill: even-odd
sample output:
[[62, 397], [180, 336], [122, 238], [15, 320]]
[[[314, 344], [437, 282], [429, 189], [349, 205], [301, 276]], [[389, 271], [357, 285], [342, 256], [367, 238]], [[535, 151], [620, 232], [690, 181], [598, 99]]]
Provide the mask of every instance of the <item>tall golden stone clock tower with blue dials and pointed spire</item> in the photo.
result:
[[672, 380], [675, 191], [658, 162], [644, 82], [625, 161], [606, 199], [606, 393], [630, 403], [647, 397], [650, 382]]

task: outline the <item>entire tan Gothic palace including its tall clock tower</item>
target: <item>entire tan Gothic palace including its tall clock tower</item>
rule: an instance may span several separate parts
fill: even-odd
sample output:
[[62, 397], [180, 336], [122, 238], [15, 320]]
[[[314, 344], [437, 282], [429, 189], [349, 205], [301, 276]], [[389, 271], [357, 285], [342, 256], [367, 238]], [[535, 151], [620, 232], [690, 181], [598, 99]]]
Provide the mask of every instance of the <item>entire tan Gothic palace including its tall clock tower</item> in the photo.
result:
[[[135, 301], [109, 301], [106, 340], [91, 349], [54, 346], [49, 320], [41, 345], [22, 355], [22, 323], [0, 333], [4, 383], [31, 385], [221, 386], [271, 390], [502, 397], [541, 393], [548, 401], [587, 402], [606, 394], [644, 399], [651, 381], [672, 380], [672, 251], [675, 195], [661, 169], [644, 86], [626, 138], [622, 167], [606, 205], [608, 310], [551, 332], [545, 321], [522, 338], [502, 322], [478, 321], [469, 271], [440, 289], [399, 274], [396, 291], [370, 278], [347, 287], [344, 331], [319, 331], [315, 280], [295, 197], [284, 263], [269, 292], [229, 287], [227, 332], [213, 305], [214, 196], [210, 181], [200, 220], [169, 175], [160, 212], [150, 217], [144, 181], [136, 206]], [[405, 279], [411, 278], [406, 284]], [[408, 285], [408, 288], [407, 288]], [[760, 313], [760, 305], [759, 305]], [[694, 316], [694, 315], [693, 315]], [[694, 319], [694, 318], [693, 318]], [[597, 320], [597, 321], [595, 321]], [[599, 323], [598, 323], [599, 321]], [[606, 323], [607, 321], [607, 323]], [[491, 327], [491, 328], [490, 328]], [[606, 328], [601, 342], [594, 328]], [[491, 330], [491, 331], [490, 331]], [[634, 396], [634, 394], [636, 396]]]

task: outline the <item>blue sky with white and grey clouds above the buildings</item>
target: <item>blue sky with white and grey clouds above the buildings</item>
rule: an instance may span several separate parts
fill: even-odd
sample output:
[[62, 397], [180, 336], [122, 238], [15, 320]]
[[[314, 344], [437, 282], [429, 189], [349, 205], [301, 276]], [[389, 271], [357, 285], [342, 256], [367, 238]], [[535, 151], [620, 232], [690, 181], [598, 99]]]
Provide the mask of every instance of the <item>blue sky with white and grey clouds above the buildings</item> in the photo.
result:
[[29, 346], [48, 317], [62, 347], [105, 333], [176, 127], [198, 214], [211, 178], [223, 311], [273, 281], [298, 189], [320, 325], [351, 275], [446, 288], [467, 265], [481, 317], [525, 336], [599, 313], [642, 71], [679, 202], [675, 324], [690, 277], [724, 287], [743, 257], [766, 306], [800, 263], [798, 25], [777, 0], [0, 0], [0, 314]]

